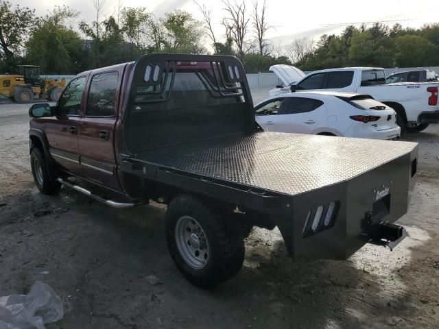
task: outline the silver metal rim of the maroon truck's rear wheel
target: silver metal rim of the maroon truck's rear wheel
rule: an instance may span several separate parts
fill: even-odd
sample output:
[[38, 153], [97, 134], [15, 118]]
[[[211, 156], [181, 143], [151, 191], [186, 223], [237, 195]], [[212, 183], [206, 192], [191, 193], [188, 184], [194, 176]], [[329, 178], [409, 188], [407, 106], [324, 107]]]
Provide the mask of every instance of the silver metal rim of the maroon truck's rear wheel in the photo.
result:
[[203, 269], [209, 262], [209, 242], [206, 233], [190, 216], [182, 216], [176, 223], [175, 238], [178, 252], [193, 269]]

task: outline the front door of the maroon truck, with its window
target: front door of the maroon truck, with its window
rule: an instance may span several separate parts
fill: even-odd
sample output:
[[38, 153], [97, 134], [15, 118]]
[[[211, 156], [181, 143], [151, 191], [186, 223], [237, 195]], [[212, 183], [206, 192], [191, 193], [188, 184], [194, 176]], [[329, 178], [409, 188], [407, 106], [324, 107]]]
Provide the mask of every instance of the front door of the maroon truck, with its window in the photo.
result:
[[56, 117], [45, 128], [52, 158], [73, 173], [80, 169], [78, 126], [85, 82], [86, 76], [71, 80], [56, 104]]

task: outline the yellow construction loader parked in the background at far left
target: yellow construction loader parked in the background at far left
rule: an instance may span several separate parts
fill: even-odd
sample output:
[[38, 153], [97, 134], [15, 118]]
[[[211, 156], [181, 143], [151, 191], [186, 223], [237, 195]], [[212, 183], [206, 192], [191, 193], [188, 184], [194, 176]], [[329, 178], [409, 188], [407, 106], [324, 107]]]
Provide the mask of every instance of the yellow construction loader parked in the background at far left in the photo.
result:
[[40, 80], [40, 66], [20, 65], [16, 75], [0, 75], [0, 95], [13, 99], [17, 103], [30, 103], [35, 99], [58, 101], [66, 80]]

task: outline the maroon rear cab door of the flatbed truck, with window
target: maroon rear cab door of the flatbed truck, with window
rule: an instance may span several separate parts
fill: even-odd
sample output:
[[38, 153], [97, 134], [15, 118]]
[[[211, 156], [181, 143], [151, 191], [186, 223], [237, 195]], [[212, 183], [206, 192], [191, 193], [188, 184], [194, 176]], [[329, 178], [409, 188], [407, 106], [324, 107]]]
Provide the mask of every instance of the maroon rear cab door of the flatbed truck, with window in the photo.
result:
[[81, 175], [115, 190], [120, 190], [116, 174], [114, 132], [119, 75], [122, 73], [92, 73], [88, 79], [78, 135]]

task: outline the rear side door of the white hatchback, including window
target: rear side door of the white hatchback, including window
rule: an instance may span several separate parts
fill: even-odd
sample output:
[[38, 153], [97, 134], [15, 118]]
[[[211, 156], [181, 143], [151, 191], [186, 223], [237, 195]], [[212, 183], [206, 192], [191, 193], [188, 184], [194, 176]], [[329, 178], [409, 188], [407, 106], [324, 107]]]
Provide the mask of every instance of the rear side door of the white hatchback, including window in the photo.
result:
[[312, 134], [327, 114], [324, 103], [307, 97], [288, 97], [276, 120], [276, 132]]

